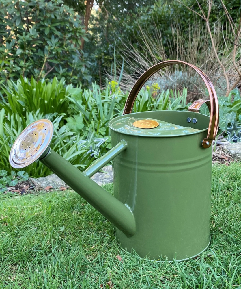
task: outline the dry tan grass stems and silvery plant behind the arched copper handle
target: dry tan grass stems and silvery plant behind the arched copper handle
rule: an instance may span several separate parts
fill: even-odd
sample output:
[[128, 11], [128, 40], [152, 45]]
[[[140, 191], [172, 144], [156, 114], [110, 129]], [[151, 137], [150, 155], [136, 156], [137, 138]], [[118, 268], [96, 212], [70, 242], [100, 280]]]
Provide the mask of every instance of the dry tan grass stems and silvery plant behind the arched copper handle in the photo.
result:
[[[151, 66], [168, 60], [166, 47], [163, 46], [165, 38], [169, 59], [196, 65], [211, 78], [219, 96], [229, 95], [233, 88], [240, 85], [241, 73], [238, 72], [241, 69], [241, 28], [240, 23], [234, 23], [225, 9], [223, 17], [226, 17], [225, 30], [221, 25], [221, 19], [215, 23], [208, 23], [208, 26], [206, 21], [197, 19], [193, 25], [189, 25], [185, 38], [180, 25], [172, 25], [171, 38], [163, 35], [164, 32], [156, 21], [153, 21], [151, 29], [139, 25], [141, 41], [122, 41], [121, 54], [124, 57], [125, 70], [133, 71], [132, 75], [123, 72], [122, 89], [133, 86], [137, 78]], [[149, 83], [158, 83], [160, 90], [187, 87], [188, 101], [207, 97], [201, 77], [191, 68], [181, 65], [169, 66], [155, 73]]]

